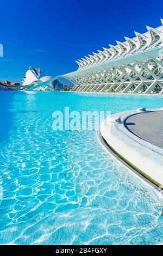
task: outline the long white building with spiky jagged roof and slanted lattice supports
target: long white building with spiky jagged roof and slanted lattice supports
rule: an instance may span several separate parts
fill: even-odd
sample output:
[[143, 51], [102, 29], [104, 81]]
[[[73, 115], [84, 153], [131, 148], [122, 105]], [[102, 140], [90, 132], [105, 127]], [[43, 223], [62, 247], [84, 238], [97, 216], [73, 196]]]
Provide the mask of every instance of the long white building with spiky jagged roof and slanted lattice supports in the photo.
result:
[[163, 26], [124, 38], [78, 60], [78, 70], [62, 76], [74, 83], [73, 91], [163, 94]]

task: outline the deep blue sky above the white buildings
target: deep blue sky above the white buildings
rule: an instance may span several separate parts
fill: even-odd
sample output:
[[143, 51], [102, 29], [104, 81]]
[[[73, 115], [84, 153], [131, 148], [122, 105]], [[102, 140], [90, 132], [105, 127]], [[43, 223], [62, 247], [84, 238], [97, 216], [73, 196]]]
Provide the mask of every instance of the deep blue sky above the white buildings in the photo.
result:
[[77, 69], [75, 60], [157, 27], [162, 0], [1, 0], [0, 80], [21, 81], [29, 65], [45, 75]]

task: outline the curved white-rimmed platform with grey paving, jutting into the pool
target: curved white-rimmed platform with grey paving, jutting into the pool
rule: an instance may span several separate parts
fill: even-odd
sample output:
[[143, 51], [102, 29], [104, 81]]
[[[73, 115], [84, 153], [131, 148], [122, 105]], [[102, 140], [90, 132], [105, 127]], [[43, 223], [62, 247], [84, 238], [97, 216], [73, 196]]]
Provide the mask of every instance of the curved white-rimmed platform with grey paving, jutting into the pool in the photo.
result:
[[100, 127], [102, 138], [114, 154], [159, 189], [163, 187], [161, 125], [163, 109], [140, 108], [111, 115]]

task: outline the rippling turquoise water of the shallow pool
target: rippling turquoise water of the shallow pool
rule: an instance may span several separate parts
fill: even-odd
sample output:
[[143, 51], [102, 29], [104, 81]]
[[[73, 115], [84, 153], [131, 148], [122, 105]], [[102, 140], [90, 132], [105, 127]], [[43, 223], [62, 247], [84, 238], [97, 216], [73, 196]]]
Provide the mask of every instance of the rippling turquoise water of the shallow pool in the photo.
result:
[[0, 243], [152, 245], [163, 202], [95, 131], [53, 131], [52, 113], [161, 107], [157, 96], [1, 92]]

